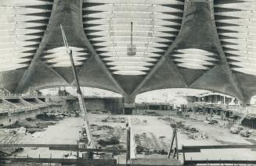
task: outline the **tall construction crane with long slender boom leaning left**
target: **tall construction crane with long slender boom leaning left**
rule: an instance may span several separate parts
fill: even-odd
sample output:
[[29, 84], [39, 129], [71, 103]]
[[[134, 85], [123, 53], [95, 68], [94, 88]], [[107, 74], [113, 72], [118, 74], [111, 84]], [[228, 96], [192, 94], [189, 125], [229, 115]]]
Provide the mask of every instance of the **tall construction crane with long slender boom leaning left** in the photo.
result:
[[74, 74], [74, 81], [77, 85], [78, 102], [79, 102], [79, 106], [81, 108], [81, 115], [82, 115], [82, 117], [84, 118], [84, 121], [85, 121], [85, 132], [86, 132], [87, 140], [88, 140], [87, 147], [95, 148], [96, 146], [95, 146], [94, 141], [92, 140], [92, 132], [91, 132], [91, 129], [90, 129], [90, 122], [89, 122], [89, 118], [88, 118], [86, 107], [85, 107], [85, 101], [84, 101], [83, 95], [81, 93], [80, 83], [79, 83], [79, 80], [78, 80], [78, 74], [76, 72], [76, 69], [74, 68], [74, 59], [73, 59], [73, 55], [72, 55], [72, 50], [68, 46], [67, 38], [66, 38], [65, 32], [63, 30], [63, 26], [61, 24], [60, 24], [60, 30], [61, 30], [61, 33], [62, 33], [62, 36], [63, 36], [63, 41], [64, 41], [64, 45], [65, 45], [65, 48], [66, 48], [66, 53], [67, 53], [67, 55], [70, 56], [71, 67], [72, 67], [72, 71], [73, 71], [73, 74]]

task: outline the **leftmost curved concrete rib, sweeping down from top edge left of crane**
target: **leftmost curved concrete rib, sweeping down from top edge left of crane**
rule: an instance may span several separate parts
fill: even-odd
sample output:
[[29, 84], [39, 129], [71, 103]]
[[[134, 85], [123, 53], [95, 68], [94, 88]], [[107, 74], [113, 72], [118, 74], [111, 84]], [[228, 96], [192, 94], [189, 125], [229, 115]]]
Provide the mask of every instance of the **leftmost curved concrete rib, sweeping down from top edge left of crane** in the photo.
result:
[[20, 93], [23, 91], [23, 89], [26, 87], [26, 84], [27, 82], [31, 79], [31, 76], [32, 74], [34, 73], [34, 68], [35, 66], [37, 65], [39, 59], [40, 59], [40, 55], [42, 54], [46, 44], [47, 44], [47, 41], [50, 37], [50, 26], [52, 26], [52, 19], [53, 19], [53, 16], [56, 12], [56, 7], [57, 7], [57, 4], [60, 0], [54, 0], [53, 1], [53, 4], [52, 4], [52, 12], [51, 12], [51, 15], [49, 17], [49, 23], [46, 27], [46, 30], [45, 30], [45, 33], [41, 39], [41, 43], [39, 44], [38, 46], [38, 49], [37, 51], [35, 52], [34, 54], [34, 58], [32, 59], [31, 61], [31, 64], [29, 65], [28, 69], [23, 73], [23, 76], [21, 77], [21, 79], [19, 80], [18, 84], [17, 84], [17, 87], [16, 87], [16, 90], [15, 90], [15, 93]]

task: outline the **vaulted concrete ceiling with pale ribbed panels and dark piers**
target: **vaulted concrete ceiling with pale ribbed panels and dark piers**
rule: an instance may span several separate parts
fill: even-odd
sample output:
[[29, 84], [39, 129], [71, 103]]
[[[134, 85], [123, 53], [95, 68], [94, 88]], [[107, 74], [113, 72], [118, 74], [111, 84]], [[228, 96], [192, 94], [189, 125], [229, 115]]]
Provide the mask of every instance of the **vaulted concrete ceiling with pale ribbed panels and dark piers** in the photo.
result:
[[[0, 87], [81, 86], [123, 94], [197, 88], [256, 94], [254, 0], [0, 0]], [[136, 54], [128, 55], [133, 23]]]

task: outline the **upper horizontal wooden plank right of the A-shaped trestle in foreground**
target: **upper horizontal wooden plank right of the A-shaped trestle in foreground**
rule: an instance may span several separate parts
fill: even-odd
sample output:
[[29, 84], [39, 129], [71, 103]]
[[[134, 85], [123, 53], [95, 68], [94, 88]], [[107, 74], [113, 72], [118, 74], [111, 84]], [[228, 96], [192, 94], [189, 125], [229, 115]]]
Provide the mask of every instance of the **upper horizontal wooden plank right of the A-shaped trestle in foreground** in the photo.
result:
[[184, 146], [183, 150], [202, 150], [202, 149], [251, 149], [256, 145], [210, 145], [210, 146]]

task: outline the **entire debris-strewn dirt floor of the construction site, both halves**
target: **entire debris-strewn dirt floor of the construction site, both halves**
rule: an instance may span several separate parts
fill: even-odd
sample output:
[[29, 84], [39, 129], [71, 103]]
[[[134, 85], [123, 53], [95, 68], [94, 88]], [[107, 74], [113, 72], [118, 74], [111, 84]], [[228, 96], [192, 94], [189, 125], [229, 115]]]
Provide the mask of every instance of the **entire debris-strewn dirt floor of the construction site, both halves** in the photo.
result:
[[[171, 122], [166, 118], [173, 118], [184, 125], [189, 125], [195, 129], [195, 136], [191, 138], [191, 133], [185, 129], [178, 129], [178, 148], [195, 145], [221, 145], [221, 144], [252, 144], [256, 142], [255, 137], [244, 138], [237, 134], [232, 134], [229, 129], [225, 129], [220, 124], [210, 125], [202, 121], [191, 118], [180, 118], [174, 115], [149, 116], [149, 115], [106, 115], [106, 114], [89, 114], [92, 126], [92, 134], [96, 142], [99, 140], [109, 140], [116, 137], [119, 143], [116, 145], [98, 145], [102, 148], [123, 148], [126, 149], [126, 130], [128, 116], [132, 118], [132, 128], [135, 136], [135, 143], [147, 147], [150, 150], [165, 150], [171, 144], [172, 127]], [[75, 144], [79, 139], [79, 131], [83, 125], [81, 118], [67, 117], [57, 122], [55, 125], [49, 125], [45, 131], [38, 132], [37, 136], [31, 134], [25, 136], [0, 136], [1, 143], [61, 143]], [[4, 131], [0, 131], [4, 132]], [[202, 137], [202, 135], [204, 135]], [[29, 157], [63, 157], [67, 151], [52, 151], [47, 148], [24, 148], [22, 152], [14, 154], [16, 156]], [[74, 153], [70, 157], [75, 157]], [[125, 154], [114, 156], [120, 164], [125, 163]], [[137, 154], [138, 158], [165, 158], [167, 154]], [[182, 159], [182, 154], [179, 156]], [[255, 160], [256, 150], [251, 149], [229, 149], [229, 150], [202, 150], [201, 153], [186, 154], [189, 160]]]

